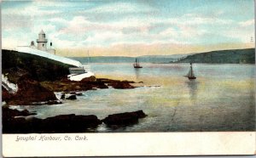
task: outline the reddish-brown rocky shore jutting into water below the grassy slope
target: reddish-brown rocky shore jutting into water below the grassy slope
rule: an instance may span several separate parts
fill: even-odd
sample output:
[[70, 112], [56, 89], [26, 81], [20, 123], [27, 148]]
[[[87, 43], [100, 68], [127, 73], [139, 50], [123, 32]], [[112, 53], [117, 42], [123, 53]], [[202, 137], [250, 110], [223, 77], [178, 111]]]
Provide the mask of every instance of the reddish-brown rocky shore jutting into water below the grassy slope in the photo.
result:
[[[80, 82], [73, 82], [67, 79], [61, 79], [54, 82], [38, 82], [31, 77], [21, 76], [17, 82], [17, 93], [9, 93], [3, 88], [3, 101], [9, 105], [40, 105], [40, 104], [61, 104], [61, 100], [57, 99], [55, 92], [62, 92], [62, 99], [76, 99], [76, 92], [95, 90], [97, 88], [104, 89], [113, 87], [116, 89], [135, 88], [128, 81], [96, 79], [96, 77], [84, 78]], [[65, 93], [73, 93], [75, 95], [65, 98]]]

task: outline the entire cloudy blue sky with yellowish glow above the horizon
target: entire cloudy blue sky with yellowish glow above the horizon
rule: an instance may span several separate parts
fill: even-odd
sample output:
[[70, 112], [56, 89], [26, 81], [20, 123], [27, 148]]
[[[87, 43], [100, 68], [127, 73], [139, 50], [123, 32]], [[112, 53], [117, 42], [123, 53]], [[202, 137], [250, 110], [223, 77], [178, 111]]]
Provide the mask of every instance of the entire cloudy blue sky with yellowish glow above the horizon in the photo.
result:
[[253, 0], [3, 0], [2, 47], [29, 45], [44, 30], [63, 56], [254, 48], [253, 6]]

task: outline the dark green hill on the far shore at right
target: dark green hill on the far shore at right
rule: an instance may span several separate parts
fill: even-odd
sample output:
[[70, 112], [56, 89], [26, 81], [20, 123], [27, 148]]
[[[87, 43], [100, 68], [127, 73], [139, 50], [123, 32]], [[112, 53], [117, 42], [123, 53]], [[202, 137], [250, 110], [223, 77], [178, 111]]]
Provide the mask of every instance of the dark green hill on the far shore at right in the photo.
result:
[[255, 48], [192, 54], [170, 63], [255, 64]]

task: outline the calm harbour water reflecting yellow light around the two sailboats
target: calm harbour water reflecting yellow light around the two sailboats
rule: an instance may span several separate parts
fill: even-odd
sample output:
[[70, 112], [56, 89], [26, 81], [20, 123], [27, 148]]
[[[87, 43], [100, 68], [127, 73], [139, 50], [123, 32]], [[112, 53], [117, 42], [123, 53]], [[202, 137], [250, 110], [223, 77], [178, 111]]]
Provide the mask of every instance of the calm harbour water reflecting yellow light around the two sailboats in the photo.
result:
[[46, 118], [64, 114], [96, 115], [143, 110], [148, 116], [135, 125], [92, 132], [200, 132], [255, 129], [255, 66], [194, 64], [195, 80], [184, 77], [189, 64], [92, 63], [96, 77], [143, 82], [134, 89], [82, 92], [63, 104], [19, 106]]

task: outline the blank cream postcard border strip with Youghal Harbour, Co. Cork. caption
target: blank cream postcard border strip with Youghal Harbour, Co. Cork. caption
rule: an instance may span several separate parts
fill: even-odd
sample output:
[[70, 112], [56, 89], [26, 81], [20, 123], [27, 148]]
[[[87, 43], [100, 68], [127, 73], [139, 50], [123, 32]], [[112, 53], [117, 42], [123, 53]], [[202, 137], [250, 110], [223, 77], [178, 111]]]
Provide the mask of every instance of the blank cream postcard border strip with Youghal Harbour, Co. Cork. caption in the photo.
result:
[[254, 154], [255, 132], [3, 134], [6, 157]]

